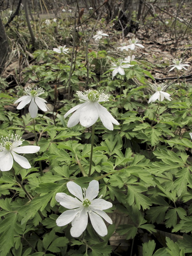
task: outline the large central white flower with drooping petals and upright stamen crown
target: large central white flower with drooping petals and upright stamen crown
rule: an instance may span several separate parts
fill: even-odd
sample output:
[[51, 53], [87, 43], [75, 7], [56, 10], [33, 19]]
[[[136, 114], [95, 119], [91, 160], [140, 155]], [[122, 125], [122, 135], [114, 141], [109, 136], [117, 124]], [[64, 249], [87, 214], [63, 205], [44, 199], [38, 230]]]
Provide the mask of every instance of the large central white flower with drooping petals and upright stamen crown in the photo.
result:
[[113, 131], [113, 124], [119, 125], [108, 110], [99, 104], [99, 102], [102, 101], [109, 101], [109, 95], [90, 89], [84, 91], [84, 93], [77, 91], [76, 94], [80, 98], [80, 101], [84, 103], [75, 106], [64, 115], [65, 118], [76, 110], [69, 118], [67, 123], [68, 127], [73, 127], [80, 122], [81, 125], [88, 128], [93, 125], [99, 117], [105, 128], [111, 131]]

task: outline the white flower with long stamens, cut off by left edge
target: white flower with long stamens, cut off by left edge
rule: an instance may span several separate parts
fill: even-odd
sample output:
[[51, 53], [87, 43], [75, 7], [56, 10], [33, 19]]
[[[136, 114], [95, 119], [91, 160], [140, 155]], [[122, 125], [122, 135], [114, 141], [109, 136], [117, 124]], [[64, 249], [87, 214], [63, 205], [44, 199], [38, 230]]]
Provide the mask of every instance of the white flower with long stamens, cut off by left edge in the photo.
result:
[[[14, 138], [15, 137], [15, 138]], [[24, 140], [21, 140], [19, 135], [15, 136], [12, 134], [8, 137], [1, 139], [0, 143], [0, 170], [2, 172], [11, 170], [13, 166], [13, 159], [17, 162], [20, 166], [25, 169], [29, 169], [31, 167], [29, 161], [22, 157], [19, 154], [29, 154], [29, 153], [37, 153], [40, 149], [38, 146], [22, 146], [19, 147]]]

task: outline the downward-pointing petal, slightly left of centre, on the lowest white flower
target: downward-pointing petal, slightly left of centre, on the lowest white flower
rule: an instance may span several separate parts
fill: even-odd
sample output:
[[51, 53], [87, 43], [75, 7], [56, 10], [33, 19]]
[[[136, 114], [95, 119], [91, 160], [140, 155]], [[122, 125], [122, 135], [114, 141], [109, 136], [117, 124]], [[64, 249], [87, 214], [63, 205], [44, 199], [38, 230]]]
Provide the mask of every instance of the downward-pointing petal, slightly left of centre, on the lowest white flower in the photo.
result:
[[76, 215], [76, 217], [71, 222], [71, 236], [72, 237], [79, 237], [83, 231], [86, 229], [88, 223], [88, 214], [85, 208]]

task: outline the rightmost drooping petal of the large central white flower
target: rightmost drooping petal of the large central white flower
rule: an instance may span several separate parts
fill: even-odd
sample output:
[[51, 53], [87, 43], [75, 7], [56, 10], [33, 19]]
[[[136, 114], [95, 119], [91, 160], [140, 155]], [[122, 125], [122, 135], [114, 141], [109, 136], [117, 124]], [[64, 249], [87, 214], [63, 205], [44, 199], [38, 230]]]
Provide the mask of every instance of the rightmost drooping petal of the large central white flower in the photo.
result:
[[[117, 120], [113, 118], [112, 114], [108, 112], [106, 108], [101, 106], [99, 103], [96, 105], [102, 124], [110, 131], [113, 131], [113, 124], [119, 125]], [[113, 123], [113, 124], [112, 124]]]

